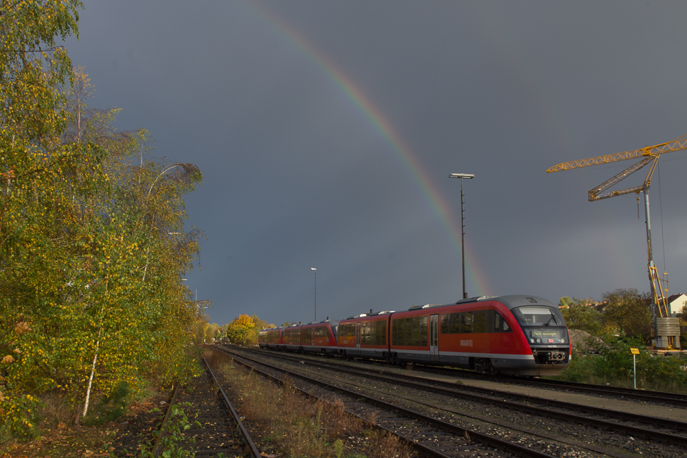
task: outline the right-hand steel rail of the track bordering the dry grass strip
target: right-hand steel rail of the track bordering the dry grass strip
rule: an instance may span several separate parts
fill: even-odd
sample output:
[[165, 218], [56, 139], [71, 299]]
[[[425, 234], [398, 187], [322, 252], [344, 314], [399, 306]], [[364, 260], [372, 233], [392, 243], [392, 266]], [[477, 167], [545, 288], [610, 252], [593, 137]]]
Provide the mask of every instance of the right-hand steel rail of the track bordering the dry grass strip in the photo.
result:
[[[221, 349], [227, 353], [231, 353], [228, 350]], [[236, 354], [234, 354], [236, 356]], [[297, 372], [294, 371], [289, 371], [288, 369], [284, 369], [282, 367], [277, 367], [273, 366], [268, 363], [264, 363], [262, 361], [257, 361], [254, 360], [253, 358], [249, 358], [248, 356], [243, 356], [243, 355], [238, 355], [240, 358], [245, 358], [247, 360], [252, 360], [255, 363], [259, 363], [261, 365], [265, 365], [267, 367], [270, 367], [271, 369], [283, 372], [284, 374], [289, 374], [290, 376], [294, 376], [297, 378], [301, 378], [302, 380], [306, 380], [307, 382], [313, 383], [314, 385], [319, 385], [322, 387], [328, 387], [328, 388], [333, 388], [336, 389], [337, 391], [340, 391], [341, 393], [346, 393], [348, 396], [352, 396], [354, 398], [364, 398], [365, 400], [368, 400], [372, 404], [376, 404], [380, 407], [383, 407], [387, 410], [390, 411], [395, 411], [395, 412], [401, 412], [409, 417], [416, 418], [418, 420], [422, 420], [423, 422], [427, 422], [429, 424], [433, 424], [434, 426], [438, 426], [439, 428], [442, 428], [446, 431], [449, 431], [454, 434], [458, 435], [465, 435], [466, 433], [470, 435], [470, 437], [473, 437], [477, 439], [477, 442], [481, 442], [482, 444], [486, 444], [488, 446], [492, 446], [494, 448], [500, 448], [501, 450], [506, 450], [509, 453], [515, 453], [516, 455], [520, 455], [523, 457], [532, 457], [532, 458], [552, 458], [552, 455], [548, 455], [547, 453], [542, 453], [537, 450], [532, 450], [530, 448], [521, 446], [519, 444], [513, 444], [513, 442], [508, 442], [504, 441], [502, 439], [497, 439], [495, 437], [492, 437], [490, 435], [486, 435], [484, 433], [479, 433], [477, 431], [473, 431], [468, 428], [462, 428], [461, 426], [457, 426], [455, 424], [449, 423], [449, 422], [444, 422], [443, 420], [438, 420], [437, 418], [429, 417], [427, 415], [424, 415], [419, 412], [412, 411], [410, 409], [405, 409], [403, 407], [400, 407], [395, 404], [390, 404], [389, 402], [385, 402], [383, 400], [379, 400], [376, 398], [373, 398], [372, 396], [367, 396], [363, 393], [359, 393], [357, 391], [351, 391], [349, 389], [337, 387], [335, 385], [331, 385], [326, 382], [322, 382], [320, 380], [317, 380], [315, 378], [311, 378], [308, 376], [304, 376], [302, 374], [298, 374]], [[398, 433], [396, 433], [398, 435]], [[399, 435], [401, 436], [401, 435]], [[412, 440], [412, 439], [408, 439]], [[413, 441], [415, 444], [416, 442]]]

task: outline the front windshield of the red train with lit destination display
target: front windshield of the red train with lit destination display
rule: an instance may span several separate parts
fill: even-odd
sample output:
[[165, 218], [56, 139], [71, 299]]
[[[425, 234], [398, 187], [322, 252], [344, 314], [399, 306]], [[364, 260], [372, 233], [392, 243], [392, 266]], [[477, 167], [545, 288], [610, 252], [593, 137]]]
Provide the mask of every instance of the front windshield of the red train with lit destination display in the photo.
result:
[[558, 309], [523, 306], [511, 311], [530, 343], [545, 345], [568, 343], [565, 319]]

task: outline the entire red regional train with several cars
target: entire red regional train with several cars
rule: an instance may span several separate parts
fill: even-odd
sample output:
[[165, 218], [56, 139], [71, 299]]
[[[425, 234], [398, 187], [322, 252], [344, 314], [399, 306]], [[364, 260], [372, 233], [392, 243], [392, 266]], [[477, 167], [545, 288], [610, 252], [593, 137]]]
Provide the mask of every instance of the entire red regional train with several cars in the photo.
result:
[[559, 375], [570, 336], [557, 306], [536, 296], [481, 296], [260, 331], [263, 348], [474, 369]]

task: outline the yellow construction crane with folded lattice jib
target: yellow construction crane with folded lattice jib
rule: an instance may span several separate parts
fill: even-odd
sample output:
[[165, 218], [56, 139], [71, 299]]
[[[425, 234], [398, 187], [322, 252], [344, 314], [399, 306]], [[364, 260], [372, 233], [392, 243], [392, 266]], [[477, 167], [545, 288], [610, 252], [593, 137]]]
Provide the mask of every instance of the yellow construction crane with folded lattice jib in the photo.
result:
[[[668, 291], [668, 288], [663, 288], [661, 282], [664, 280], [658, 276], [658, 271], [653, 262], [653, 249], [651, 247], [651, 218], [649, 218], [649, 185], [651, 185], [651, 175], [653, 175], [653, 171], [658, 164], [658, 159], [661, 157], [661, 154], [685, 149], [687, 149], [687, 135], [684, 137], [679, 137], [673, 141], [668, 141], [667, 143], [654, 146], [644, 146], [644, 148], [640, 148], [638, 150], [617, 152], [616, 154], [604, 154], [602, 156], [590, 157], [589, 159], [581, 159], [580, 161], [560, 163], [559, 165], [554, 165], [552, 168], [546, 171], [548, 173], [559, 172], [561, 170], [572, 170], [576, 168], [589, 167], [591, 165], [600, 165], [617, 161], [626, 161], [627, 159], [641, 158], [637, 163], [634, 163], [616, 176], [613, 176], [611, 179], [590, 190], [589, 201], [593, 202], [602, 198], [622, 196], [623, 194], [629, 194], [631, 192], [634, 192], [635, 194], [644, 192], [644, 211], [646, 213], [646, 245], [649, 253], [649, 281], [651, 282], [651, 296], [653, 299], [652, 313], [654, 317], [654, 331], [655, 335], [657, 336], [657, 347], [672, 348], [675, 347], [676, 344], [679, 347], [679, 325], [677, 328], [676, 342], [675, 335], [668, 335], [675, 332], [673, 330], [675, 327], [675, 323], [673, 323], [673, 321], [675, 319], [670, 318], [671, 314], [668, 308], [668, 301], [666, 300], [666, 291]], [[649, 164], [649, 173], [646, 174], [644, 184], [640, 186], [629, 187], [624, 190], [607, 191], [611, 186], [616, 185], [618, 182], [627, 178], [627, 176], [637, 172], [644, 167], [644, 165]], [[658, 308], [658, 317], [660, 317], [660, 320], [657, 320], [654, 304]], [[668, 326], [668, 328], [666, 328], [666, 326]], [[666, 332], [668, 334], [666, 334]], [[666, 336], [665, 341], [662, 339], [662, 336]]]

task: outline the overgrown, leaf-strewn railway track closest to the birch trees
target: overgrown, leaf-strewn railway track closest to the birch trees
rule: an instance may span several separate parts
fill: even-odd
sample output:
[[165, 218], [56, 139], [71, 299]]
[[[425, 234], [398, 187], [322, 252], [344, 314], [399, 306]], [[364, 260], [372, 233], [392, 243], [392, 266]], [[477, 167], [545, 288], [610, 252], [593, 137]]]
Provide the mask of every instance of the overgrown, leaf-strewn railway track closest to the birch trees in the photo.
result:
[[[167, 446], [167, 450], [170, 447], [189, 450], [197, 458], [218, 456], [259, 458], [260, 451], [229, 402], [210, 365], [207, 364], [205, 358], [203, 362], [206, 368], [203, 376], [194, 380], [190, 386], [181, 389], [177, 387], [174, 390], [172, 400], [159, 426], [159, 432], [155, 435], [153, 454], [155, 457], [164, 456]], [[177, 426], [174, 431], [174, 427], [168, 426], [169, 422], [174, 422], [175, 417], [179, 418], [183, 415], [188, 420], [181, 422], [181, 428]], [[185, 425], [190, 426], [188, 430], [180, 431]], [[176, 435], [181, 440], [178, 442], [172, 440], [170, 438], [172, 435]]]

